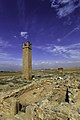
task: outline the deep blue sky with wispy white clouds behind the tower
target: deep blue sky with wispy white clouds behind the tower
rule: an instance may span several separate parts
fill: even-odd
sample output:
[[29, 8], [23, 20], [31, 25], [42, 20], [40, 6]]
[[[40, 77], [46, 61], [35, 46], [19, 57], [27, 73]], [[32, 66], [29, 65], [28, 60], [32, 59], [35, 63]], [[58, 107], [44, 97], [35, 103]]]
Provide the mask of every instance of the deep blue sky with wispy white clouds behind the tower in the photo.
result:
[[80, 0], [0, 0], [0, 70], [21, 70], [27, 40], [33, 69], [80, 67]]

